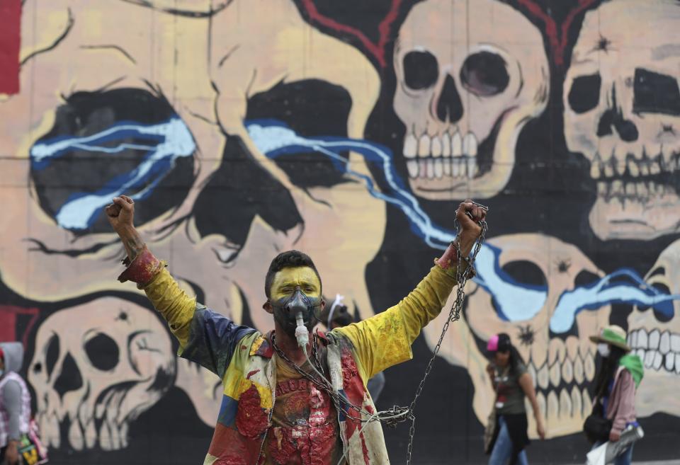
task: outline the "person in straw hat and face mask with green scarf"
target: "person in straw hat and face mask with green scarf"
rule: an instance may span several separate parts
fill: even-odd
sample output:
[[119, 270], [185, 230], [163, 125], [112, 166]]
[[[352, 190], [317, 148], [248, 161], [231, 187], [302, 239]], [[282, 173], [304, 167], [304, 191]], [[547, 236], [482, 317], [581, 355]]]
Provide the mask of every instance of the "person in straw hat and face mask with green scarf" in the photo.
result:
[[[638, 426], [635, 418], [635, 391], [644, 375], [642, 360], [630, 354], [625, 343], [626, 334], [621, 326], [611, 325], [599, 335], [590, 337], [597, 344], [602, 363], [595, 376], [595, 408], [604, 418], [611, 420], [609, 441], [617, 442], [626, 427]], [[604, 441], [595, 442], [593, 449]], [[614, 465], [630, 465], [633, 460], [633, 444], [626, 448], [613, 462]]]

